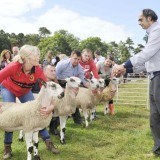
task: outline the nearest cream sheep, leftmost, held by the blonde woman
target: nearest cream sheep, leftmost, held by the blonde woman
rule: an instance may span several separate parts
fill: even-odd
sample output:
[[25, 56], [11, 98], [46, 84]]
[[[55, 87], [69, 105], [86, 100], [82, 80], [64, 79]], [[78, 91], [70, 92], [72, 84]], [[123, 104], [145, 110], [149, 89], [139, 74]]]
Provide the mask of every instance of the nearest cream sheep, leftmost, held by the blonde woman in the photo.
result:
[[[42, 86], [38, 97], [26, 103], [2, 102], [0, 113], [0, 128], [7, 132], [23, 130], [27, 145], [27, 160], [32, 159], [34, 149], [34, 159], [40, 160], [38, 155], [38, 131], [47, 127], [51, 121], [52, 113], [43, 118], [39, 109], [51, 105], [53, 98], [63, 92], [62, 87], [54, 82], [47, 82]], [[34, 142], [34, 145], [33, 143]]]

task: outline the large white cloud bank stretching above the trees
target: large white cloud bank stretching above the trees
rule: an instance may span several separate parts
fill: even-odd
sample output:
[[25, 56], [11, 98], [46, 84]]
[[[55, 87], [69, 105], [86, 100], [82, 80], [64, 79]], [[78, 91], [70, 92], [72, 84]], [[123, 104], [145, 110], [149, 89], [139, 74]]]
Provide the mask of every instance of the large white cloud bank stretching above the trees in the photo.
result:
[[[5, 2], [3, 3], [3, 8], [6, 7], [6, 9], [9, 9], [7, 2], [12, 2], [12, 0], [6, 0]], [[16, 9], [10, 9], [11, 12], [9, 13], [2, 13], [2, 10], [0, 11], [0, 26], [5, 32], [16, 34], [38, 33], [40, 27], [46, 27], [52, 33], [60, 29], [65, 29], [82, 40], [96, 36], [107, 42], [118, 42], [132, 36], [131, 33], [126, 32], [125, 26], [115, 25], [98, 17], [82, 16], [79, 13], [58, 5], [46, 10], [41, 15], [26, 17], [24, 16], [25, 13], [30, 10], [43, 7], [42, 4], [44, 1], [14, 0], [13, 2], [21, 3], [18, 3], [18, 5], [12, 3]], [[15, 13], [12, 14], [12, 12]], [[6, 16], [4, 17], [3, 15]]]

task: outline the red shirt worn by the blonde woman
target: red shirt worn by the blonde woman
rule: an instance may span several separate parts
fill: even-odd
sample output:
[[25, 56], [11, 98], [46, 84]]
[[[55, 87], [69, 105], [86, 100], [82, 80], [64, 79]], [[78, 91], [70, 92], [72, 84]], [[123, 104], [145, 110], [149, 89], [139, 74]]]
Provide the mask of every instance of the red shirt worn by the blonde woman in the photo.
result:
[[32, 89], [38, 78], [46, 81], [43, 71], [39, 66], [33, 67], [33, 69], [31, 73], [25, 74], [22, 64], [11, 62], [0, 71], [0, 83], [16, 97], [21, 97]]

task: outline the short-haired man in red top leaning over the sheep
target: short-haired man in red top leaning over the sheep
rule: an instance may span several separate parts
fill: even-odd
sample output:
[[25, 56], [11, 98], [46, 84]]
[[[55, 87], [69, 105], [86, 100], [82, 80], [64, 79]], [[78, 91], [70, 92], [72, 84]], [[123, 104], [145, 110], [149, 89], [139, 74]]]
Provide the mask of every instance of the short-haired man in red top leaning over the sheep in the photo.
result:
[[84, 49], [82, 51], [82, 58], [79, 63], [85, 72], [86, 79], [92, 79], [92, 74], [94, 78], [98, 79], [98, 71], [94, 63], [91, 50]]

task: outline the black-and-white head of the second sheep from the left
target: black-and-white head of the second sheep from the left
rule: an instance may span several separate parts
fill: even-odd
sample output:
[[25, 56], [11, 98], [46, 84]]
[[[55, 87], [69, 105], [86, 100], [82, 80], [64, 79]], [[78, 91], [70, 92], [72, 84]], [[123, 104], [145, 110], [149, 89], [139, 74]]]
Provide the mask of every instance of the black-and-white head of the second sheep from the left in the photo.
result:
[[78, 77], [70, 77], [66, 78], [65, 80], [67, 82], [66, 86], [71, 88], [74, 93], [78, 94], [81, 79]]

